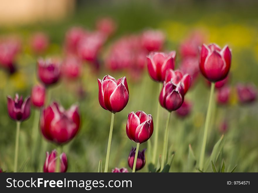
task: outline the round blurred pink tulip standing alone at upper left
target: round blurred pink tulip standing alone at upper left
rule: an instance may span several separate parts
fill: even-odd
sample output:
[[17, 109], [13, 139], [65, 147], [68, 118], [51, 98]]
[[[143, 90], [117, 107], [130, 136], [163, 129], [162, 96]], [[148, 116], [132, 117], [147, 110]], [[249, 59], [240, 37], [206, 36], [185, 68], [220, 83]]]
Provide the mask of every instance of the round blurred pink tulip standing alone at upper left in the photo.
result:
[[49, 45], [48, 36], [43, 32], [35, 33], [31, 37], [30, 45], [35, 53], [42, 53], [47, 49]]

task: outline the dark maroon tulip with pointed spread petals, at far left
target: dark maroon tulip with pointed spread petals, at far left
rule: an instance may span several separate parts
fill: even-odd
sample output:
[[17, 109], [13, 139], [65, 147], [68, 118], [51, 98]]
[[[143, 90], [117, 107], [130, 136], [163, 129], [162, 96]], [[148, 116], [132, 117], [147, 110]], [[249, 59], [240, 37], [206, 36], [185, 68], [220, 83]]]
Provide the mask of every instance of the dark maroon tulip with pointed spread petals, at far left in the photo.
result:
[[16, 94], [14, 99], [7, 96], [7, 109], [9, 116], [16, 121], [24, 121], [30, 116], [30, 97], [23, 101], [22, 96]]

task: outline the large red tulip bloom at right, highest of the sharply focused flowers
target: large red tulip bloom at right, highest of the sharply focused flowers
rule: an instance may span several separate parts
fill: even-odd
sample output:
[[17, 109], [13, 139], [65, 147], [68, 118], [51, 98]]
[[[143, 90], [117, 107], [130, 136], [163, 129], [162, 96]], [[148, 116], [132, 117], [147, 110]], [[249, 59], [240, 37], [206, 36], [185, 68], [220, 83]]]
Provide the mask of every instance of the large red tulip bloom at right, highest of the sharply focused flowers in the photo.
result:
[[199, 67], [205, 78], [211, 82], [223, 80], [228, 75], [231, 64], [231, 51], [228, 46], [222, 50], [214, 43], [202, 45]]

